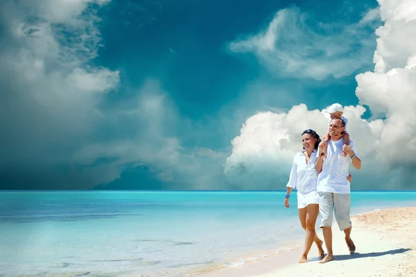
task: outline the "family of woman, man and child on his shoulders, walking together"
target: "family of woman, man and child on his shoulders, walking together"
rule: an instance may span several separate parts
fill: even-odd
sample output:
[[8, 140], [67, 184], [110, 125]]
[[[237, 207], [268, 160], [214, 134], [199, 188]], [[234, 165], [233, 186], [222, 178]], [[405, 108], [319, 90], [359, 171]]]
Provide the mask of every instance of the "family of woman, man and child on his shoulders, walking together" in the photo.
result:
[[[295, 154], [291, 176], [289, 178], [285, 206], [289, 206], [289, 197], [293, 188], [297, 189], [297, 208], [300, 222], [306, 231], [304, 252], [299, 262], [307, 262], [307, 256], [313, 242], [318, 247], [320, 263], [333, 260], [332, 252], [332, 218], [335, 208], [336, 222], [340, 231], [345, 233], [345, 242], [349, 253], [353, 254], [356, 247], [351, 239], [352, 224], [350, 216], [350, 185], [349, 163], [356, 169], [361, 168], [361, 160], [356, 155], [354, 141], [345, 142], [347, 119], [342, 116], [342, 106], [333, 110], [330, 107], [328, 133], [324, 140], [312, 129], [302, 133], [304, 150]], [[332, 110], [331, 110], [332, 109]], [[341, 111], [340, 111], [341, 110]], [[322, 240], [315, 233], [315, 222], [318, 213], [322, 217], [320, 228], [324, 235], [327, 256], [324, 257]]]

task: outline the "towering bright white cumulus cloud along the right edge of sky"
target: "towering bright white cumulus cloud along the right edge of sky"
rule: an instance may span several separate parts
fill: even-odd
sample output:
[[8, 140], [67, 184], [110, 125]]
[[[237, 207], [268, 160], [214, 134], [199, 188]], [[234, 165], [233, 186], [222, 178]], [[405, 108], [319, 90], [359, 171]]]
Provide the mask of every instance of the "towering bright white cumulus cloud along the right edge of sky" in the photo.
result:
[[375, 70], [356, 76], [356, 95], [372, 111], [386, 114], [381, 151], [375, 154], [395, 166], [413, 163], [416, 155], [416, 2], [379, 3], [385, 24], [376, 30]]

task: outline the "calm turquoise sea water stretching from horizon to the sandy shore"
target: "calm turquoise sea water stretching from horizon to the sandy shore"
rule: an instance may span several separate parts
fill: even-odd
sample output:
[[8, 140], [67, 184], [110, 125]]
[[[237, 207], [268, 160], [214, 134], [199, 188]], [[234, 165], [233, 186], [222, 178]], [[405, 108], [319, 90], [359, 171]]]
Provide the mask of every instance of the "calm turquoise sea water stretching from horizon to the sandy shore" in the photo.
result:
[[[304, 237], [296, 194], [291, 208], [284, 194], [3, 191], [0, 276], [180, 276], [241, 265]], [[352, 193], [353, 214], [396, 206], [416, 206], [416, 191]]]

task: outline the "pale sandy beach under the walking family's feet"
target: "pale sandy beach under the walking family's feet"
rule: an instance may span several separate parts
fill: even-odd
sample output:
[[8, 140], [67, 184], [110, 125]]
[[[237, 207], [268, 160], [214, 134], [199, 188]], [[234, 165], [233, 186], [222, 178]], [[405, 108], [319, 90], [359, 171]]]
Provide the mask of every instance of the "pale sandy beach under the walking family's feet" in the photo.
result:
[[[356, 253], [350, 255], [344, 233], [333, 224], [334, 260], [319, 264], [313, 245], [309, 262], [298, 264], [302, 242], [293, 250], [236, 268], [209, 271], [203, 277], [416, 276], [416, 207], [390, 208], [352, 217]], [[323, 239], [322, 232], [318, 235]]]

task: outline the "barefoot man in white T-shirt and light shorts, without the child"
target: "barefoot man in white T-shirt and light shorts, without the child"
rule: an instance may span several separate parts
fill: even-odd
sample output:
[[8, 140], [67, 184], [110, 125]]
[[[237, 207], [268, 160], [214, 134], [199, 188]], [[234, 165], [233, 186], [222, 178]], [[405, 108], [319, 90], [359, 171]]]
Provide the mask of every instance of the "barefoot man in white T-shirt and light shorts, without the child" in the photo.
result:
[[[331, 139], [322, 141], [318, 148], [318, 157], [321, 157], [325, 148], [327, 154], [318, 159], [315, 163], [318, 170], [317, 189], [320, 195], [319, 211], [322, 217], [320, 228], [324, 234], [324, 241], [327, 247], [327, 256], [320, 260], [320, 263], [333, 260], [332, 253], [332, 210], [335, 208], [335, 217], [340, 231], [345, 233], [345, 242], [349, 253], [353, 254], [356, 247], [351, 239], [352, 224], [349, 220], [351, 199], [350, 188], [347, 176], [349, 175], [349, 162], [356, 169], [361, 168], [361, 160], [357, 157], [354, 141], [349, 145], [344, 144], [342, 132], [345, 129], [345, 121], [342, 118], [333, 118], [329, 123], [329, 134]], [[343, 152], [347, 153], [343, 157]]]

